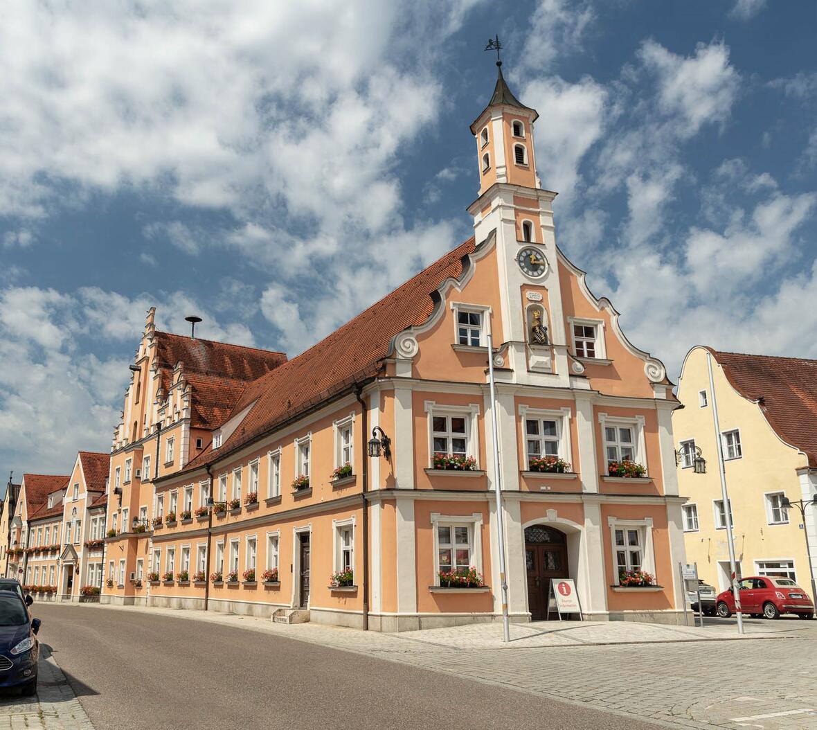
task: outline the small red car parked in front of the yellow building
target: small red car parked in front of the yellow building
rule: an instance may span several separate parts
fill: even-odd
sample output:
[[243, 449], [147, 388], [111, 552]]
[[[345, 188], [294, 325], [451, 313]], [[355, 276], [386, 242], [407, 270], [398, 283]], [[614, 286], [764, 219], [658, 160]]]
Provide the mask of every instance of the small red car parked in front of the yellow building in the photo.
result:
[[[743, 613], [766, 619], [779, 619], [781, 613], [796, 613], [801, 619], [815, 615], [815, 606], [808, 593], [791, 578], [757, 575], [740, 580], [740, 607]], [[717, 615], [728, 619], [734, 613], [731, 590], [718, 593]]]

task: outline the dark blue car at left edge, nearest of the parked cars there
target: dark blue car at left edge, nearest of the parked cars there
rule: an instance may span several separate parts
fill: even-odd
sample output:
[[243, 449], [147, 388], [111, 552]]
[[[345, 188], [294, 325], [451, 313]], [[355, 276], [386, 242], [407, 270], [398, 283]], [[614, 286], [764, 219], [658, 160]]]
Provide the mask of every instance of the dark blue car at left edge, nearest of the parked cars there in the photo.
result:
[[0, 592], [0, 687], [20, 687], [24, 695], [37, 692], [40, 623], [16, 593]]

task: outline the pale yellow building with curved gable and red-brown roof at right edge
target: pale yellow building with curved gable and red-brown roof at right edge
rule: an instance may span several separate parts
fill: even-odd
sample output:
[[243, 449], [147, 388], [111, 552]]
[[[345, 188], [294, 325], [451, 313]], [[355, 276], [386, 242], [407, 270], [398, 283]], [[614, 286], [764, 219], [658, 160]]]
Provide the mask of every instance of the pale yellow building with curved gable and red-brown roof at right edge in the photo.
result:
[[[817, 507], [812, 504], [817, 493], [817, 361], [701, 346], [687, 354], [678, 383], [684, 407], [672, 416], [680, 452], [678, 486], [688, 498], [682, 508], [687, 560], [698, 563], [703, 580], [717, 589], [729, 587], [708, 353], [739, 575], [784, 575], [814, 593], [806, 540], [812, 559], [817, 558]], [[707, 460], [705, 474], [692, 468], [695, 447]], [[785, 508], [784, 497], [801, 502], [805, 517], [796, 505]]]

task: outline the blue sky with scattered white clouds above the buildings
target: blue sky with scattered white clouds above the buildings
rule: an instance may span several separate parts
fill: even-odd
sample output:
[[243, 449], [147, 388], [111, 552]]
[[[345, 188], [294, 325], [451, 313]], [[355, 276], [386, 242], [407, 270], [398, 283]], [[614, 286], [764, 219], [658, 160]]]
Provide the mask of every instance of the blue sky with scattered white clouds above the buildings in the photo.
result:
[[817, 358], [813, 2], [3, 16], [4, 475], [109, 448], [151, 305], [297, 354], [465, 240], [494, 33], [540, 114], [557, 241], [632, 342], [672, 378], [695, 343]]

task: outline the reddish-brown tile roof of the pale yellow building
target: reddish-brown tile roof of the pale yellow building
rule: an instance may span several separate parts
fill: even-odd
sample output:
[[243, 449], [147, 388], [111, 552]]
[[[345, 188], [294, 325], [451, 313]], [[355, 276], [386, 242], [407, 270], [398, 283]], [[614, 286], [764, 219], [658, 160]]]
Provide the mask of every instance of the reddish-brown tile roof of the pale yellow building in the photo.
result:
[[759, 401], [779, 437], [817, 468], [817, 361], [709, 349], [735, 389]]

